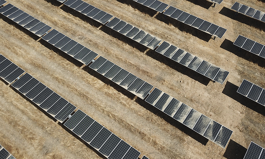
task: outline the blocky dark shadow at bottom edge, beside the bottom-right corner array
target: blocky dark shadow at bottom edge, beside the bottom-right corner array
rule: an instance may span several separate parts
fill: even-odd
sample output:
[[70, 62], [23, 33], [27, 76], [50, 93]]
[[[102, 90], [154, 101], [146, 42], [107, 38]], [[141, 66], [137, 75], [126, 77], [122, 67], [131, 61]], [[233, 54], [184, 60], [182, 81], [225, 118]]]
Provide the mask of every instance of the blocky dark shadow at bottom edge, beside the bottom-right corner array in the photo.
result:
[[229, 144], [227, 145], [226, 151], [224, 152], [223, 157], [227, 159], [242, 159], [246, 154], [247, 149], [237, 142], [230, 140]]

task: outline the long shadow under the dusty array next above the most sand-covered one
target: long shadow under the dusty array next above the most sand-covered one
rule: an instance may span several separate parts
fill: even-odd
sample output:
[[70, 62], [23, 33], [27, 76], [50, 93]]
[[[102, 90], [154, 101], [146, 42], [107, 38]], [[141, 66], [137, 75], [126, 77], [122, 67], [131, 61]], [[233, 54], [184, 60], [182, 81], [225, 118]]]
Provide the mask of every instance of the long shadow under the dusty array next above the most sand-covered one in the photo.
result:
[[209, 79], [206, 76], [203, 76], [202, 74], [193, 71], [192, 69], [181, 65], [180, 63], [169, 59], [168, 57], [165, 57], [164, 55], [155, 52], [154, 50], [149, 50], [148, 52], [146, 52], [146, 55], [149, 57], [154, 58], [155, 60], [164, 63], [165, 65], [171, 67], [172, 69], [176, 70], [177, 72], [180, 72], [184, 75], [187, 75], [188, 77], [194, 79], [195, 81], [198, 81], [200, 83], [202, 83], [203, 85], [207, 86], [208, 83], [211, 81], [211, 79]]

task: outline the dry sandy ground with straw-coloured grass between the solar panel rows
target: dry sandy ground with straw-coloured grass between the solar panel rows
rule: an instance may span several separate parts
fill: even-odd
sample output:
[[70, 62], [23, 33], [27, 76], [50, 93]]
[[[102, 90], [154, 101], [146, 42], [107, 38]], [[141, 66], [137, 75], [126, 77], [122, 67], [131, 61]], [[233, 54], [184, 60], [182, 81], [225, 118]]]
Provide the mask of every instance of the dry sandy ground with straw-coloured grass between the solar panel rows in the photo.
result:
[[[117, 87], [89, 67], [64, 56], [18, 25], [0, 19], [0, 53], [100, 122], [150, 159], [242, 159], [250, 142], [265, 147], [265, 107], [236, 93], [243, 79], [265, 88], [262, 57], [233, 46], [238, 35], [265, 44], [265, 23], [205, 0], [163, 2], [224, 27], [213, 40], [132, 0], [84, 0], [230, 72], [223, 85], [158, 55], [76, 14], [55, 0], [8, 0], [42, 22], [116, 63], [195, 110], [233, 130], [223, 149]], [[238, 0], [265, 11], [262, 1]], [[154, 16], [154, 17], [153, 17]], [[19, 158], [91, 158], [95, 150], [72, 136], [24, 97], [0, 82], [0, 144]]]

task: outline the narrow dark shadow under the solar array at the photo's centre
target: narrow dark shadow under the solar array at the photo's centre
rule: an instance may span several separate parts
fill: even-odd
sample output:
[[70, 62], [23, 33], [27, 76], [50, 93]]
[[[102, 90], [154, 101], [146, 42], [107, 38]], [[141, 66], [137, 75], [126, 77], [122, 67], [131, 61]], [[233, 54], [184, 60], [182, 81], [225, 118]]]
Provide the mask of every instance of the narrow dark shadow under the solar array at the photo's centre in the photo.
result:
[[[88, 65], [89, 66], [89, 65]], [[106, 85], [109, 85], [113, 87], [116, 91], [122, 93], [126, 97], [133, 99], [135, 95], [129, 91], [127, 91], [125, 88], [121, 87], [117, 83], [111, 81], [110, 79], [106, 78], [105, 76], [101, 75], [100, 73], [96, 72], [95, 70], [91, 69], [90, 67], [85, 66], [82, 69], [86, 72], [88, 72], [91, 76], [96, 77], [99, 79], [101, 82], [105, 83]]]

